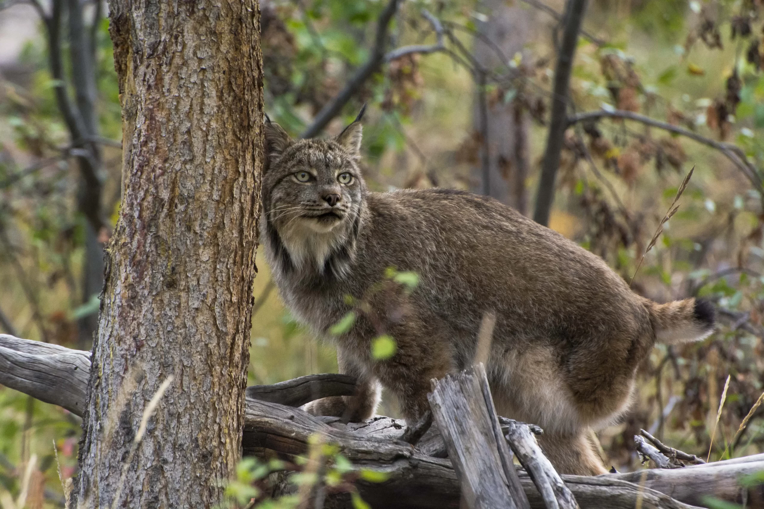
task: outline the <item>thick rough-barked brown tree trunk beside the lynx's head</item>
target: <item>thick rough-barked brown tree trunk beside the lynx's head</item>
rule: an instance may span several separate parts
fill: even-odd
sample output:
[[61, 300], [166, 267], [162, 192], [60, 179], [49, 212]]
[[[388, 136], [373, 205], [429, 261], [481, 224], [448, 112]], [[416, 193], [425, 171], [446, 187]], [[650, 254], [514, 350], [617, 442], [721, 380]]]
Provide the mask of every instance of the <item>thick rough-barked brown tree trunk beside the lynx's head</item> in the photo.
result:
[[256, 0], [110, 0], [109, 13], [123, 199], [77, 507], [212, 507], [244, 426], [263, 156], [259, 11]]

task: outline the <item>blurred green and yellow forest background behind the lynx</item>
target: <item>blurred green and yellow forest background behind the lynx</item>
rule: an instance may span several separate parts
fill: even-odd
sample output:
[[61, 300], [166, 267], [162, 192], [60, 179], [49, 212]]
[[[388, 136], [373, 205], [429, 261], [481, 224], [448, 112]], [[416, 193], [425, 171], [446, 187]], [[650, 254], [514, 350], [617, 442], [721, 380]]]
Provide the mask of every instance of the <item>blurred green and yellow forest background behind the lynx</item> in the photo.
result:
[[[53, 16], [64, 4], [63, 31], [51, 34], [39, 8]], [[636, 273], [636, 292], [656, 301], [710, 298], [717, 332], [656, 347], [639, 369], [633, 407], [597, 433], [601, 455], [619, 470], [638, 469], [632, 437], [640, 428], [711, 459], [762, 452], [764, 407], [736, 435], [764, 390], [760, 2], [589, 2], [568, 114], [636, 120], [575, 117], [555, 185], [540, 189], [565, 2], [417, 0], [397, 5], [383, 26], [389, 6], [261, 2], [270, 118], [295, 136], [322, 127], [336, 134], [365, 102], [363, 168], [372, 189], [471, 189], [529, 216], [539, 192], [553, 195], [549, 226], [626, 281]], [[0, 332], [81, 350], [97, 326], [102, 245], [121, 195], [105, 14], [99, 2], [0, 2]], [[380, 30], [389, 35], [384, 47]], [[51, 41], [60, 44], [58, 66]], [[421, 46], [406, 51], [413, 45]], [[348, 100], [338, 101], [347, 89]], [[61, 91], [70, 92], [86, 136], [73, 135]], [[339, 113], [316, 124], [335, 105]], [[98, 148], [88, 156], [86, 144]], [[678, 211], [664, 221], [693, 167]], [[335, 372], [331, 346], [283, 308], [262, 253], [257, 267], [249, 382]], [[395, 417], [395, 401], [384, 398], [379, 412]], [[79, 433], [73, 414], [0, 388], [0, 486], [18, 494], [34, 456], [38, 489], [30, 492], [39, 497], [28, 503], [59, 504], [57, 461], [64, 478], [76, 473]]]

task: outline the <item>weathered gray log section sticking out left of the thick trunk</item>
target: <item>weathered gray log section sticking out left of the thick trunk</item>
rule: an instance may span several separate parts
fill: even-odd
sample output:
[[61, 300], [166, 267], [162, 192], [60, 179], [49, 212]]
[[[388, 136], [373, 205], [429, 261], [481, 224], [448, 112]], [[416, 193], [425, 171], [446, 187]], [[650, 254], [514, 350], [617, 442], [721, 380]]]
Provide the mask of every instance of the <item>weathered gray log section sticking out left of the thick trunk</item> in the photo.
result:
[[90, 353], [0, 334], [0, 384], [82, 416]]

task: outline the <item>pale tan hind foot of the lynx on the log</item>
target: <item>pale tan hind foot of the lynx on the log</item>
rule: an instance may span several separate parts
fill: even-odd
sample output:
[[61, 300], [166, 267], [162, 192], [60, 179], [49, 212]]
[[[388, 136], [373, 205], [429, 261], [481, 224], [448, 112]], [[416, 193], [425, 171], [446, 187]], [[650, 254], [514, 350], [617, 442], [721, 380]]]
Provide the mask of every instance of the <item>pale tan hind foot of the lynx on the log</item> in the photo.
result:
[[585, 428], [571, 435], [544, 433], [539, 437], [539, 446], [560, 474], [607, 473], [600, 455], [594, 449], [594, 444], [588, 439], [588, 430]]

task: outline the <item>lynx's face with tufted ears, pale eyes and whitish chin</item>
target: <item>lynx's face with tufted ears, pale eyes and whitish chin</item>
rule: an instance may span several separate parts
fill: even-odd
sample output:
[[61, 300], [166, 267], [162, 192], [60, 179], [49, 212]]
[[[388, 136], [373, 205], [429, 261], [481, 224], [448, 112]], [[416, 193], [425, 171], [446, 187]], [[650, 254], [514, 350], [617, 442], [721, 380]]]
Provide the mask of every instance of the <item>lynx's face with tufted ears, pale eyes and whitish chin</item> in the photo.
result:
[[278, 124], [266, 123], [263, 206], [266, 230], [289, 256], [282, 265], [312, 264], [324, 272], [332, 255], [354, 241], [366, 193], [360, 144], [358, 122], [333, 140], [292, 140]]

